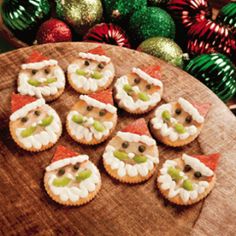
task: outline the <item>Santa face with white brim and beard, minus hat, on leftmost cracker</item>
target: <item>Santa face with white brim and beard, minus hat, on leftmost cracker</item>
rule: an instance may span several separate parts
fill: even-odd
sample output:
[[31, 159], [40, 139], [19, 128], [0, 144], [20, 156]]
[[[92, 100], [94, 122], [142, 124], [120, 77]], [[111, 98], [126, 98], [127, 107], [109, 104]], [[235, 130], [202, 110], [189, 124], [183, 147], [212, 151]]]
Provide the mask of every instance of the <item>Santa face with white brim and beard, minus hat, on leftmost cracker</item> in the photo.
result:
[[12, 130], [25, 148], [40, 150], [56, 143], [61, 134], [61, 120], [54, 109], [38, 99], [14, 112], [10, 117]]

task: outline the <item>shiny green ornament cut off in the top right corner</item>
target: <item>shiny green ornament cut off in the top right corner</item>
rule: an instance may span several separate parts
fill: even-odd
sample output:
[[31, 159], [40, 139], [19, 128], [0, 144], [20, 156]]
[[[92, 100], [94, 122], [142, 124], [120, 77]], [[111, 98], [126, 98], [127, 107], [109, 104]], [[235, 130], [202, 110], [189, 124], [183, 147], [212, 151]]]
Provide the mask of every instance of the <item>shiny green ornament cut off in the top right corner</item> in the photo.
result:
[[216, 21], [227, 25], [236, 35], [236, 2], [230, 2], [221, 8]]

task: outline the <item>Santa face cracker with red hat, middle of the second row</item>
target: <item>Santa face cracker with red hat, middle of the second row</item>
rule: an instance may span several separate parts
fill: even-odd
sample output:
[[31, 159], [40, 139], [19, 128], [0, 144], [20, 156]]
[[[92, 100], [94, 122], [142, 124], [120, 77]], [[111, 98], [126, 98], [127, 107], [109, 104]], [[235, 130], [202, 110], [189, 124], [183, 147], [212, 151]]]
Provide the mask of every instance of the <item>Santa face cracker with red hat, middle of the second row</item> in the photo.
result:
[[69, 135], [82, 144], [94, 145], [106, 140], [117, 123], [117, 109], [113, 106], [110, 89], [80, 95], [79, 101], [67, 115]]

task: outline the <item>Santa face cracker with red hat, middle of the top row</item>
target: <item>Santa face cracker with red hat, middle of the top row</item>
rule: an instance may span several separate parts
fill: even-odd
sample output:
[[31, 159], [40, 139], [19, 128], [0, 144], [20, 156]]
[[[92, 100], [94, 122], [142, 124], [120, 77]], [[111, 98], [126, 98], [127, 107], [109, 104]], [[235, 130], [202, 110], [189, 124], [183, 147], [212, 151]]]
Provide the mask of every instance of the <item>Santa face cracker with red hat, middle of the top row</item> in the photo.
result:
[[115, 76], [111, 58], [105, 55], [101, 46], [87, 53], [80, 52], [79, 58], [68, 66], [67, 72], [72, 88], [82, 94], [108, 88]]

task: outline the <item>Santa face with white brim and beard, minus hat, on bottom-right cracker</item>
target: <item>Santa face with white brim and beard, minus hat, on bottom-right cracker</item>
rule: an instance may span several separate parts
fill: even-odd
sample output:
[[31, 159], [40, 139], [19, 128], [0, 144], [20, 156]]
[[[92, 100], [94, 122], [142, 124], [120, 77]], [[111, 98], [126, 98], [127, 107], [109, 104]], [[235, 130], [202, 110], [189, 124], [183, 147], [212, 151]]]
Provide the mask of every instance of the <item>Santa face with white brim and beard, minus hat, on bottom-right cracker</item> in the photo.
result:
[[160, 169], [158, 183], [168, 191], [168, 198], [180, 197], [187, 203], [196, 200], [209, 186], [208, 177], [214, 172], [198, 159], [183, 154], [182, 158], [167, 160]]

